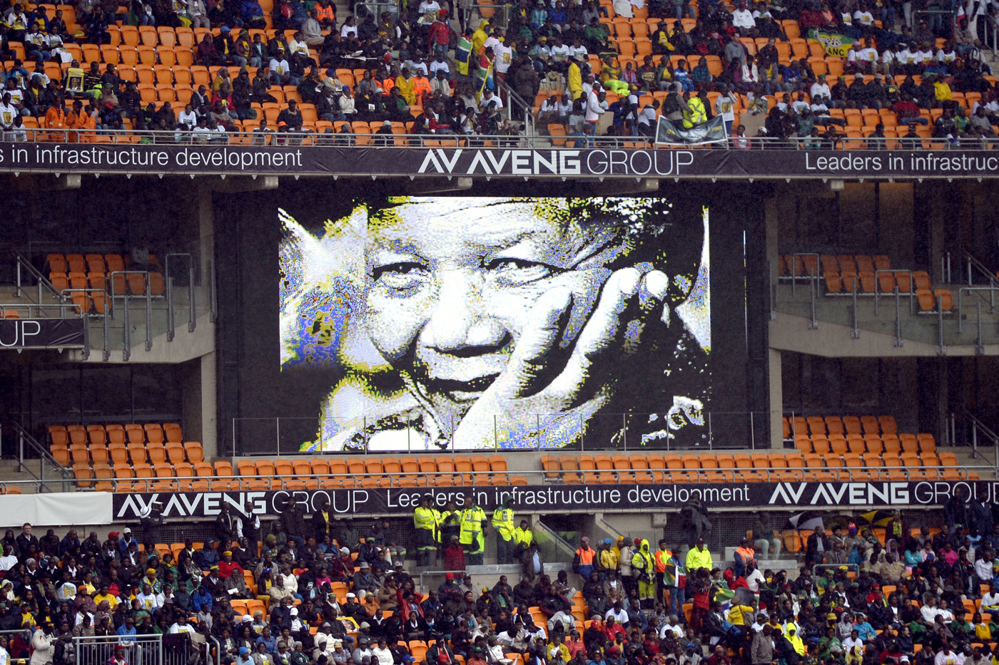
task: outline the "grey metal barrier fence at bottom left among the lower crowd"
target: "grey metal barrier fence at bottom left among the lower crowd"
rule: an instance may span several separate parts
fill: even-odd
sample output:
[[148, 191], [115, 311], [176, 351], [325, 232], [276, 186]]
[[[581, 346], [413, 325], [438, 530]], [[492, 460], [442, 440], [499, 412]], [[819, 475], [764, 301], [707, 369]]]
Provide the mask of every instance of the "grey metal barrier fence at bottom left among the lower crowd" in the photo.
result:
[[[121, 647], [129, 665], [188, 665], [202, 651], [200, 636], [109, 635], [74, 637], [76, 665], [107, 665]], [[198, 660], [201, 660], [200, 657]]]

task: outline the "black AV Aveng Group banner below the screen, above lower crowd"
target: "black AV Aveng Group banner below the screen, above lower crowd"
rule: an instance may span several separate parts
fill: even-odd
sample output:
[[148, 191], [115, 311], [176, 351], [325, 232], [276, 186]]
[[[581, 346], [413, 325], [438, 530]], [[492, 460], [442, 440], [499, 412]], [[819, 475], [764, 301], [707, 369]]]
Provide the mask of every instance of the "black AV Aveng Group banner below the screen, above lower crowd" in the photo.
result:
[[341, 515], [410, 515], [424, 496], [438, 508], [449, 501], [461, 504], [466, 496], [489, 512], [505, 497], [518, 511], [591, 513], [625, 510], [679, 509], [693, 500], [708, 508], [753, 510], [837, 509], [942, 505], [957, 487], [988, 504], [996, 499], [999, 482], [750, 482], [700, 484], [514, 485], [509, 487], [356, 487], [348, 489], [115, 493], [114, 521], [139, 517], [157, 501], [166, 517], [214, 518], [223, 503], [242, 510], [247, 501], [260, 515], [278, 515], [294, 495], [307, 514], [325, 501]]

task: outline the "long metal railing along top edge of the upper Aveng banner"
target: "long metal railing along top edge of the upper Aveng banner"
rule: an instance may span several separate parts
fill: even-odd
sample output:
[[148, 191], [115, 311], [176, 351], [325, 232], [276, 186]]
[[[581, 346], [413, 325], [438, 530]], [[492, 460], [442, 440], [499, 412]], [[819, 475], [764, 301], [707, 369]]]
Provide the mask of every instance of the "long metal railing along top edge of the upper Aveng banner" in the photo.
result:
[[[533, 125], [531, 124], [531, 127]], [[822, 136], [811, 137], [750, 137], [748, 148], [736, 144], [735, 139], [728, 139], [709, 145], [685, 144], [654, 144], [646, 137], [633, 136], [587, 136], [550, 137], [538, 134], [524, 135], [485, 135], [485, 134], [354, 134], [354, 133], [322, 133], [315, 131], [302, 132], [227, 132], [217, 138], [201, 140], [198, 134], [192, 132], [163, 132], [133, 130], [28, 130], [28, 142], [43, 144], [79, 144], [81, 146], [99, 147], [108, 145], [185, 145], [213, 148], [219, 146], [252, 146], [255, 148], [307, 148], [307, 147], [364, 147], [385, 148], [573, 148], [576, 140], [597, 149], [662, 149], [662, 150], [812, 150], [826, 149]], [[557, 142], [554, 143], [554, 142]], [[911, 150], [940, 151], [947, 149], [960, 150], [995, 150], [999, 147], [999, 138], [960, 138], [954, 141], [929, 137], [905, 138], [888, 137], [885, 139], [870, 139], [868, 137], [849, 137], [845, 134], [836, 136], [834, 150], [866, 151], [866, 150]], [[28, 169], [24, 169], [27, 171]], [[53, 165], [52, 170], [57, 170]], [[95, 167], [100, 171], [100, 167]], [[155, 171], [154, 166], [136, 164], [136, 170]], [[985, 171], [985, 169], [981, 169]]]

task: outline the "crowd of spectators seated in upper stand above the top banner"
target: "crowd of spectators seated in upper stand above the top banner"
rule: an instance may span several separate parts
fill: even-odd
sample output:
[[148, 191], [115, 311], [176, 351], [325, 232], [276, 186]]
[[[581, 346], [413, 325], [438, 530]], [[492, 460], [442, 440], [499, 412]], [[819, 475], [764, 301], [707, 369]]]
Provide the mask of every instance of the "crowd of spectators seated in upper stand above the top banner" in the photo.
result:
[[[920, 13], [918, 0], [518, 0], [502, 10], [504, 21], [496, 21], [504, 26], [484, 20], [475, 30], [466, 25], [471, 8], [459, 2], [456, 11], [454, 0], [447, 7], [423, 0], [398, 13], [343, 21], [329, 0], [280, 0], [269, 17], [258, 0], [132, 0], [123, 6], [80, 0], [73, 29], [62, 10], [4, 2], [0, 124], [14, 141], [28, 139], [29, 117], [43, 129], [160, 130], [175, 132], [177, 141], [224, 142], [230, 133], [246, 131], [264, 142], [268, 132], [332, 134], [339, 128], [345, 135], [340, 142], [352, 145], [347, 135], [361, 131], [359, 122], [365, 133], [385, 135], [376, 145], [399, 145], [389, 137], [405, 133], [516, 135], [523, 128], [500, 113], [500, 79], [528, 105], [538, 93], [546, 95], [537, 102], [538, 128], [567, 126], [584, 145], [601, 132], [605, 113], [613, 121], [604, 123], [604, 133], [631, 137], [650, 136], [659, 115], [692, 127], [715, 114], [729, 135], [739, 137], [733, 127], [738, 111], [765, 114], [760, 136], [815, 139], [828, 127], [834, 147], [835, 125], [843, 124], [836, 109], [890, 108], [899, 127], [912, 126], [913, 136], [932, 123], [934, 137], [950, 140], [992, 137], [999, 125], [995, 79], [979, 48], [996, 23], [989, 0], [955, 3], [950, 14]], [[631, 28], [615, 21], [635, 16], [659, 21], [632, 37]], [[800, 53], [788, 57], [788, 21], [802, 33], [822, 29], [855, 40], [841, 59], [844, 76], [833, 77], [831, 69], [828, 77], [816, 73]], [[215, 27], [193, 49], [194, 63], [209, 69], [209, 81], [191, 90], [189, 103], [181, 98], [157, 106], [143, 96], [134, 72], [123, 78], [111, 62], [81, 68], [69, 45], [107, 45], [117, 24]], [[264, 33], [266, 26], [274, 30]], [[751, 49], [742, 41], [747, 38]], [[767, 43], [757, 50], [758, 38]], [[713, 72], [712, 59], [719, 62]], [[60, 64], [62, 80], [46, 74], [46, 62]], [[228, 67], [240, 69], [231, 78]], [[70, 72], [83, 69], [82, 83], [71, 81]], [[355, 80], [345, 70], [364, 75]], [[856, 77], [847, 83], [851, 75]], [[296, 94], [284, 103], [290, 86]], [[977, 95], [974, 102], [965, 93]], [[279, 101], [280, 111], [265, 114], [263, 105]], [[921, 114], [929, 109], [942, 113]], [[881, 136], [883, 127], [875, 141]]]

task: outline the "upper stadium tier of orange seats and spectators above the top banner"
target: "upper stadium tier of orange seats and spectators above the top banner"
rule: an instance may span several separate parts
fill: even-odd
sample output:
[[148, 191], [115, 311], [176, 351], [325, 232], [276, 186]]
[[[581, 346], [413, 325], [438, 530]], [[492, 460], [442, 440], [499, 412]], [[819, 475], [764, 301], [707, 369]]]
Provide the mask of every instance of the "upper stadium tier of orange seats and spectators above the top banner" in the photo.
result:
[[606, 136], [646, 148], [660, 116], [681, 134], [718, 116], [735, 148], [789, 139], [940, 150], [990, 145], [999, 124], [996, 77], [974, 46], [993, 28], [966, 16], [900, 27], [894, 11], [694, 2], [679, 18], [659, 3], [603, 0], [387, 16], [296, 2], [289, 17], [285, 4], [194, 17], [183, 3], [142, 16], [11, 8], [5, 131], [13, 141], [439, 148]]

